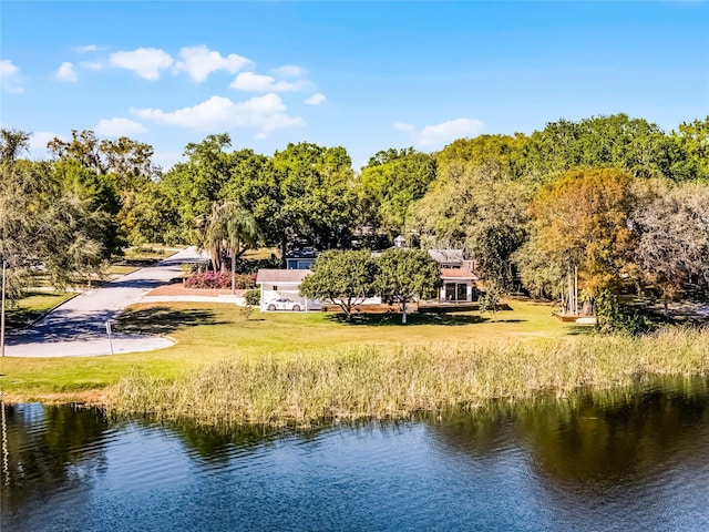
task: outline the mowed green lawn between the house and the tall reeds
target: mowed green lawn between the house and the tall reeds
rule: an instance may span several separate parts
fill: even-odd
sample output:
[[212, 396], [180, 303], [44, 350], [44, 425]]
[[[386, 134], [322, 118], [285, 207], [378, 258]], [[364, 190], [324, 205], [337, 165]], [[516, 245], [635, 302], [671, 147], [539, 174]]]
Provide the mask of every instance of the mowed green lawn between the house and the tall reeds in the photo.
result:
[[400, 325], [399, 315], [373, 315], [348, 324], [330, 313], [256, 310], [246, 319], [243, 309], [234, 305], [137, 305], [122, 316], [116, 332], [167, 335], [177, 340], [175, 346], [104, 357], [6, 357], [0, 361], [0, 389], [13, 400], [48, 399], [56, 393], [71, 400], [72, 393], [81, 398], [86, 390], [101, 390], [136, 371], [157, 379], [174, 379], [209, 362], [244, 357], [317, 358], [329, 356], [333, 349], [368, 346], [382, 354], [401, 346], [452, 349], [460, 342], [502, 339], [534, 342], [580, 330], [553, 318], [548, 305], [522, 300], [512, 300], [510, 305], [513, 310], [496, 316], [412, 315], [407, 326]]

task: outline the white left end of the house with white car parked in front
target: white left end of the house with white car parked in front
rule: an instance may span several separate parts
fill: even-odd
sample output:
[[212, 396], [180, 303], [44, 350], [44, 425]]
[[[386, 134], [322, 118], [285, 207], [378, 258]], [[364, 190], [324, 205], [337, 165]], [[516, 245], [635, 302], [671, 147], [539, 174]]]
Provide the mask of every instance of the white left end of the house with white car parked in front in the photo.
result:
[[261, 291], [260, 309], [319, 310], [319, 300], [300, 296], [300, 283], [309, 274], [309, 269], [259, 269], [256, 284]]

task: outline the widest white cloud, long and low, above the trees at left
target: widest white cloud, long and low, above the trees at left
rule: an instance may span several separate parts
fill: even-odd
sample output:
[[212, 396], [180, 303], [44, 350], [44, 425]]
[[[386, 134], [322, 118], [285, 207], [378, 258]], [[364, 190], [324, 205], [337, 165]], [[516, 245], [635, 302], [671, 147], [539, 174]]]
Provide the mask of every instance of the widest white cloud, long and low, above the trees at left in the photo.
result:
[[166, 112], [160, 109], [131, 109], [131, 114], [154, 120], [161, 124], [179, 125], [199, 131], [256, 127], [257, 137], [268, 136], [271, 131], [305, 125], [299, 116], [288, 116], [287, 108], [277, 94], [255, 96], [245, 102], [233, 102], [228, 98], [212, 96], [193, 108]]

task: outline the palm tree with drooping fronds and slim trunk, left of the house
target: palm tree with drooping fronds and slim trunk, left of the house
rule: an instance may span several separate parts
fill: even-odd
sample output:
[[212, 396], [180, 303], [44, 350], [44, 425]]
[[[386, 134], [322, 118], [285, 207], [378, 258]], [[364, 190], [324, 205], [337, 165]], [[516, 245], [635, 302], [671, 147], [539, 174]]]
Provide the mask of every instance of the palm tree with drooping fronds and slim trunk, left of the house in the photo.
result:
[[236, 291], [236, 259], [263, 242], [254, 215], [237, 202], [215, 203], [207, 221], [204, 247], [214, 257], [227, 252], [232, 260], [232, 294]]

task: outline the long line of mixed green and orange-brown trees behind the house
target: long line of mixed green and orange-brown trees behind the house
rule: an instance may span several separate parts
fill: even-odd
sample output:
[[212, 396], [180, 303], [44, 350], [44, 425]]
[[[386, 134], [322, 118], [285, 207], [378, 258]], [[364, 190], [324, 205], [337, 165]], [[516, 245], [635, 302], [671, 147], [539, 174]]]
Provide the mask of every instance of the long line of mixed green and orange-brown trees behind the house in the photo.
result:
[[[194, 244], [215, 267], [250, 246], [455, 247], [501, 290], [554, 297], [633, 287], [664, 301], [709, 291], [709, 116], [671, 132], [625, 114], [559, 120], [530, 135], [461, 139], [436, 153], [386, 150], [354, 172], [342, 146], [267, 156], [228, 134], [187, 144], [167, 171], [147, 144], [73, 131], [50, 161], [2, 130], [0, 255], [19, 279], [58, 284], [125, 245]], [[235, 269], [235, 268], [232, 268]], [[14, 286], [21, 286], [16, 283]]]

